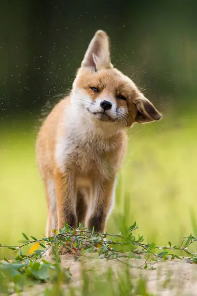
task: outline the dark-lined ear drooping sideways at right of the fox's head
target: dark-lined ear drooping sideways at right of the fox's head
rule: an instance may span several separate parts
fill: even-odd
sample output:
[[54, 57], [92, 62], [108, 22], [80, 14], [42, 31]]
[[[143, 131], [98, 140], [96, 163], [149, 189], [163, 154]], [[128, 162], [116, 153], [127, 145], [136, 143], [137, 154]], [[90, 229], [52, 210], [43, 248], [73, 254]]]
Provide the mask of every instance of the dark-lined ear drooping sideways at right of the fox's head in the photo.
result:
[[162, 118], [155, 106], [144, 96], [142, 98], [138, 97], [134, 103], [137, 107], [137, 115], [135, 118], [136, 122], [145, 123]]

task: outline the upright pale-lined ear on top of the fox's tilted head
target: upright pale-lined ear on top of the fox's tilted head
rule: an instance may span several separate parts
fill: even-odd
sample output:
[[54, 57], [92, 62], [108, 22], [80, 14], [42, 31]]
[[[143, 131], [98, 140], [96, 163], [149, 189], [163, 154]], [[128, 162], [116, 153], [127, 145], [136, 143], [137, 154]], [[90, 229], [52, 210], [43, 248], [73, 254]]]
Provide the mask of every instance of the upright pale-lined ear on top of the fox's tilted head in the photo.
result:
[[95, 72], [113, 68], [110, 62], [109, 38], [104, 31], [99, 30], [95, 33], [85, 53], [82, 67], [90, 67]]

